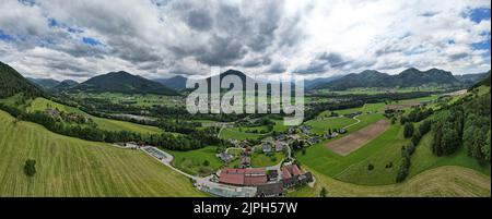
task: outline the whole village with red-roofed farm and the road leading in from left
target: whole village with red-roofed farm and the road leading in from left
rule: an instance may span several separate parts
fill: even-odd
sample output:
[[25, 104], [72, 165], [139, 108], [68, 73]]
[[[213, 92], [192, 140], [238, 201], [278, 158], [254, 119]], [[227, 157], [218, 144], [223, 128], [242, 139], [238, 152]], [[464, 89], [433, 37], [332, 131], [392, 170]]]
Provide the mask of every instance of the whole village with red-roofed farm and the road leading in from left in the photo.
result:
[[[361, 112], [350, 114], [332, 114], [331, 117], [350, 117], [356, 119]], [[326, 118], [318, 118], [319, 120]], [[234, 124], [224, 123], [223, 127]], [[314, 186], [315, 179], [309, 171], [303, 170], [293, 156], [293, 150], [303, 150], [324, 139], [330, 139], [347, 133], [347, 127], [329, 129], [324, 134], [312, 132], [311, 125], [291, 126], [284, 133], [262, 138], [259, 144], [253, 141], [230, 138], [231, 147], [215, 156], [223, 167], [206, 177], [190, 175], [173, 167], [173, 156], [154, 146], [144, 143], [125, 143], [115, 146], [142, 149], [151, 157], [194, 181], [194, 186], [200, 191], [220, 197], [280, 197], [301, 188]], [[276, 165], [254, 167], [251, 157], [262, 154], [270, 157]], [[282, 159], [277, 160], [276, 154]]]

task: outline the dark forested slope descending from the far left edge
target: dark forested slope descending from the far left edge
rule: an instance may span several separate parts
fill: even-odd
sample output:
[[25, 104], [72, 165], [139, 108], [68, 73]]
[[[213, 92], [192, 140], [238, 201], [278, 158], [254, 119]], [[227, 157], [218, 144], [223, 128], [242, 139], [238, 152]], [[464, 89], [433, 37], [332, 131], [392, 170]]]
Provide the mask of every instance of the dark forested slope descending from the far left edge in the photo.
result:
[[17, 93], [24, 93], [27, 96], [43, 94], [36, 85], [24, 78], [17, 71], [0, 62], [0, 98], [10, 97]]

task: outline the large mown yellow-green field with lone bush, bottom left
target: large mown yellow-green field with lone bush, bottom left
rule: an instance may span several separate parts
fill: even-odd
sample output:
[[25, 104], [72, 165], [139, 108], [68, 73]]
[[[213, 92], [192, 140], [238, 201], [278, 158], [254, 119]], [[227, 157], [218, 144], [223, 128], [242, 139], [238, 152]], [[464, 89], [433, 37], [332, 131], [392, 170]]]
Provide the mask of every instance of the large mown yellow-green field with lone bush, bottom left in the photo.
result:
[[[142, 151], [58, 135], [0, 111], [0, 196], [203, 196]], [[28, 178], [26, 159], [36, 160]]]

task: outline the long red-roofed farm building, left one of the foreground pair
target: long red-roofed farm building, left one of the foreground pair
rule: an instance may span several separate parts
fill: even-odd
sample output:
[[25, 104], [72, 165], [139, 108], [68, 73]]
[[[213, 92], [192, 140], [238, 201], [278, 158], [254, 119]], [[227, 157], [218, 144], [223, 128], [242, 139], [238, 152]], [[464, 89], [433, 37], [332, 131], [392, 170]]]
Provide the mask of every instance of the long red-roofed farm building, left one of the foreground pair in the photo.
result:
[[263, 169], [224, 168], [219, 174], [219, 182], [229, 185], [251, 186], [267, 183], [267, 172]]

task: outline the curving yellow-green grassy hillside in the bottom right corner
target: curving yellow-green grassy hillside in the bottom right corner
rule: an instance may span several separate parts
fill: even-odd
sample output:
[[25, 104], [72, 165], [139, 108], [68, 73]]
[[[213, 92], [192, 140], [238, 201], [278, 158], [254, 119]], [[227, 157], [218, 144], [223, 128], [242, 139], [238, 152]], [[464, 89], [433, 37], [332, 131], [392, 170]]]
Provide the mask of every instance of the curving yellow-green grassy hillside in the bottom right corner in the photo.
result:
[[490, 177], [462, 167], [440, 167], [393, 185], [355, 185], [326, 177], [311, 169], [316, 178], [314, 188], [305, 186], [289, 196], [317, 197], [323, 187], [331, 197], [490, 197]]

